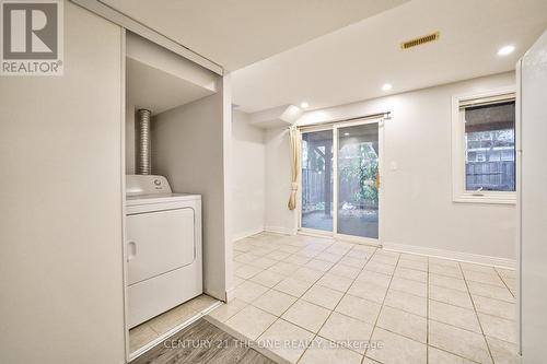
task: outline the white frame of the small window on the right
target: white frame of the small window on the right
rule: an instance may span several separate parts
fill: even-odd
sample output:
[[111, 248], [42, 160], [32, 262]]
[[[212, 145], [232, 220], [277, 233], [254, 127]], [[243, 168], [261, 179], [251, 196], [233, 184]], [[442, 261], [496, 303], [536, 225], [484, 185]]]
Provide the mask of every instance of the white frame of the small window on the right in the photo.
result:
[[[459, 105], [474, 99], [515, 95], [516, 89], [500, 87], [480, 93], [454, 95], [452, 97], [452, 200], [454, 202], [467, 203], [501, 203], [515, 204], [515, 191], [466, 191], [465, 190], [465, 124], [464, 113], [459, 110]], [[516, 98], [515, 98], [516, 101]], [[515, 117], [515, 151], [519, 150], [519, 118]], [[520, 161], [515, 160], [519, 164]], [[517, 166], [516, 166], [517, 168]], [[516, 173], [515, 168], [515, 173]], [[516, 178], [516, 175], [515, 175]], [[515, 189], [517, 184], [515, 183]]]

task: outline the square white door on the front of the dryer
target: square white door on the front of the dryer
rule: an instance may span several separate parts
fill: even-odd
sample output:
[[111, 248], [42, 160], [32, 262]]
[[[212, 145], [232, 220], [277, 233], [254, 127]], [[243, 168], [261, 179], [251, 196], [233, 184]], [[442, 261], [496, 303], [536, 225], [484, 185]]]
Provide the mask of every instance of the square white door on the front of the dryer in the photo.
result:
[[196, 259], [191, 208], [127, 216], [129, 284], [190, 265]]

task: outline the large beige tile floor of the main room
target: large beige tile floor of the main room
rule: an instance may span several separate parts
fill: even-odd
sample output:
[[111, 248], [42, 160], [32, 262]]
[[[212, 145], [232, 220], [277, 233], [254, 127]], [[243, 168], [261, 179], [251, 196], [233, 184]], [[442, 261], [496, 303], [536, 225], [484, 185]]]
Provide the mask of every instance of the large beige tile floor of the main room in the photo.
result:
[[515, 272], [305, 235], [234, 243], [210, 316], [292, 363], [517, 363]]

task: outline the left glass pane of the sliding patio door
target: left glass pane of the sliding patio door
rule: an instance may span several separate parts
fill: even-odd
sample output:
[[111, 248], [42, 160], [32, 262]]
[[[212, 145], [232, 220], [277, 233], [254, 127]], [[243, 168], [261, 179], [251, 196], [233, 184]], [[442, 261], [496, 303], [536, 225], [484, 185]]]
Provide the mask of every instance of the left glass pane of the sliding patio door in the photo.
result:
[[333, 129], [302, 133], [301, 227], [333, 232]]

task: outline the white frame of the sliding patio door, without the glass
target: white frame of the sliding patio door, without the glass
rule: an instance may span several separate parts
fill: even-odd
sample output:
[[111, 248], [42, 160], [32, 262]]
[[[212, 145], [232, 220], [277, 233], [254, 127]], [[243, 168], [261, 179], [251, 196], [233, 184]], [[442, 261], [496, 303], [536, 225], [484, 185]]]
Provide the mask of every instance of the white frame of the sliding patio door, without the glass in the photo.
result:
[[[302, 134], [306, 132], [315, 132], [315, 131], [333, 131], [333, 231], [322, 231], [317, 228], [302, 227], [302, 167], [299, 172], [299, 196], [298, 196], [298, 228], [299, 233], [303, 234], [313, 234], [313, 235], [323, 235], [323, 236], [333, 236], [334, 238], [338, 238], [340, 240], [348, 240], [353, 243], [366, 244], [381, 246], [383, 242], [383, 216], [384, 216], [384, 188], [383, 188], [383, 179], [384, 179], [384, 117], [371, 117], [371, 118], [361, 118], [354, 119], [350, 121], [339, 121], [333, 122], [327, 126], [311, 126], [302, 128], [300, 131], [300, 145], [302, 145]], [[377, 124], [379, 128], [379, 237], [363, 237], [363, 236], [354, 236], [354, 235], [346, 235], [338, 233], [338, 129], [346, 127], [354, 127], [368, 124]], [[301, 153], [302, 161], [302, 149], [299, 151]]]

